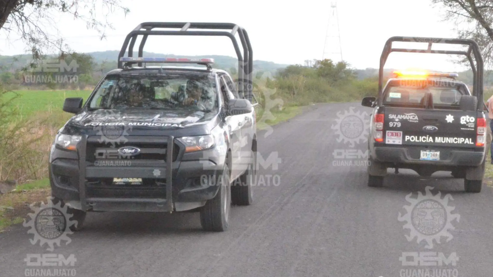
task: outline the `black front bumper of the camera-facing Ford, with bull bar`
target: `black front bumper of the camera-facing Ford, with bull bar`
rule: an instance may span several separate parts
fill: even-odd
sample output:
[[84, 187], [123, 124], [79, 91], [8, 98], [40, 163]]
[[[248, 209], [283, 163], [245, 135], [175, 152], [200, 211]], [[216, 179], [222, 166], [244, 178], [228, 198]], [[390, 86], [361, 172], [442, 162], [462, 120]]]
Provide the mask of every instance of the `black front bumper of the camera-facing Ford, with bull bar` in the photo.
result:
[[[204, 206], [219, 189], [217, 178], [222, 174], [225, 160], [221, 157], [187, 161], [179, 158], [173, 161], [171, 158], [157, 165], [95, 166], [86, 161], [87, 141], [87, 136], [83, 136], [77, 153], [54, 149], [50, 155], [52, 195], [72, 208], [93, 211], [189, 210]], [[168, 145], [167, 157], [173, 157], [176, 140], [170, 136], [163, 143]], [[115, 187], [103, 181], [113, 177], [142, 178], [145, 182], [142, 186]]]

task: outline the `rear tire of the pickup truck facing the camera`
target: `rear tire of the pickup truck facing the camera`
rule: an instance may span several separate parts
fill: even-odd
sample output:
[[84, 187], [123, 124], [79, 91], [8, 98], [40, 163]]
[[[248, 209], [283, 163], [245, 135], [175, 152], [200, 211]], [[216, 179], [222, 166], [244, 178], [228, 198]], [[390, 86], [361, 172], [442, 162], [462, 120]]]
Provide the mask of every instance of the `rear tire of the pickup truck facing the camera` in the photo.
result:
[[252, 161], [243, 173], [231, 185], [231, 204], [248, 206], [253, 202], [253, 182], [257, 176], [257, 152], [251, 151]]

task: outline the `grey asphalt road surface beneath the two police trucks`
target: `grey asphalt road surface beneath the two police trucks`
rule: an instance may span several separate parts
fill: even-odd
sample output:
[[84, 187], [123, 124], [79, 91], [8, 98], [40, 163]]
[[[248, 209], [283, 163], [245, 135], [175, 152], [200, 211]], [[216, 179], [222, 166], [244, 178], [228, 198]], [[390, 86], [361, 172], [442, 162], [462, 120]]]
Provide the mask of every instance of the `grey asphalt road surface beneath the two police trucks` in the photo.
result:
[[[366, 142], [354, 147], [350, 141], [338, 142], [331, 128], [341, 119], [337, 112], [352, 106], [371, 111], [358, 103], [314, 105], [259, 138], [263, 159], [277, 153], [281, 163], [277, 169], [260, 168], [265, 185], [254, 188], [253, 205], [232, 207], [227, 232], [203, 232], [198, 213], [89, 213], [85, 229], [68, 235], [71, 242], [62, 241], [53, 252], [65, 258], [73, 254], [74, 266], [36, 267], [24, 261], [27, 254], [52, 252], [39, 242], [33, 245], [29, 228], [20, 225], [0, 234], [0, 277], [33, 276], [36, 269], [71, 270], [78, 277], [410, 277], [422, 276], [418, 274], [425, 269], [430, 277], [492, 276], [492, 189], [466, 194], [462, 179], [450, 173], [425, 178], [390, 169], [384, 187], [368, 187], [365, 159], [359, 165], [355, 160], [333, 164], [336, 149], [366, 150]], [[268, 175], [277, 175], [280, 182], [271, 179], [268, 185]], [[404, 208], [414, 207], [406, 196], [426, 195], [426, 186], [434, 187], [433, 195], [440, 191], [434, 203], [444, 208], [421, 212], [444, 221], [437, 221], [442, 225], [439, 230], [432, 226], [431, 233], [411, 232], [418, 225], [404, 228], [407, 221], [399, 221], [399, 213], [410, 222], [419, 218]], [[450, 240], [441, 237], [441, 243], [432, 241], [427, 249], [432, 232], [448, 233]], [[455, 265], [452, 259], [441, 266], [403, 265], [403, 252], [441, 252], [446, 259], [455, 253], [458, 260]]]

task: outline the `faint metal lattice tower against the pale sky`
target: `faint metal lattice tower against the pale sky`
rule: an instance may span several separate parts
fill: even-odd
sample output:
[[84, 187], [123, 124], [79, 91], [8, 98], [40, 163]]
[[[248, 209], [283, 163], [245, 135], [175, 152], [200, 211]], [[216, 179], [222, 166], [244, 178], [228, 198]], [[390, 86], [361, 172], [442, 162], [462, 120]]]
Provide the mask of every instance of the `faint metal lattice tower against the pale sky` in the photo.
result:
[[330, 3], [329, 22], [323, 45], [323, 59], [330, 59], [335, 63], [343, 61], [341, 35], [339, 33], [339, 17], [337, 16], [337, 1]]

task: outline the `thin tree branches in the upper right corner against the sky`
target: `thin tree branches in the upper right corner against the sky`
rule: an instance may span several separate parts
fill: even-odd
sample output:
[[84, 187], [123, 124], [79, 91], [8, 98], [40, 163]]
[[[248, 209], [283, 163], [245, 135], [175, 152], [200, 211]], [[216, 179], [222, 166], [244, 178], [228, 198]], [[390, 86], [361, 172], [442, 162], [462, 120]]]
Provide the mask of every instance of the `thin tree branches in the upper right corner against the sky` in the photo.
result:
[[[478, 42], [485, 62], [491, 65], [493, 63], [493, 0], [431, 1], [440, 8], [445, 8], [444, 19], [455, 22], [455, 31], [460, 38], [471, 38]], [[466, 60], [460, 62], [467, 63]]]

